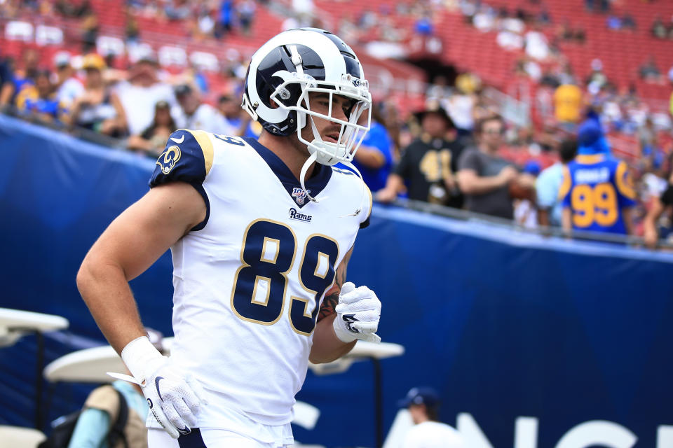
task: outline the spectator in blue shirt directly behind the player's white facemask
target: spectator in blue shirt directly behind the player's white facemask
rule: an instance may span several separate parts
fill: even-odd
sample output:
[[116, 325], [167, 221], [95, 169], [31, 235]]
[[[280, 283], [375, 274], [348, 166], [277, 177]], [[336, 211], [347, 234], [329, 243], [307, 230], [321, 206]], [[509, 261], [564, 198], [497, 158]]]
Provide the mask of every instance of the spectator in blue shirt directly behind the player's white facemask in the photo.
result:
[[[362, 119], [362, 118], [361, 118]], [[355, 153], [353, 165], [360, 170], [372, 193], [386, 186], [386, 180], [393, 166], [393, 140], [383, 123], [379, 107], [372, 109], [372, 124], [362, 144]]]

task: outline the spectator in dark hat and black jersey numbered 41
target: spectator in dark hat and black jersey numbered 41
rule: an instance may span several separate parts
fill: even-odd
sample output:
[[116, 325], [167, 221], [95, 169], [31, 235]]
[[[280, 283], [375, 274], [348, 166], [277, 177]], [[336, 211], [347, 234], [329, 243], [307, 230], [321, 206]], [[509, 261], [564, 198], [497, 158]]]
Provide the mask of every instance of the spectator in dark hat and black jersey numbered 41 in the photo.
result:
[[455, 172], [463, 146], [448, 137], [456, 134], [453, 120], [439, 104], [433, 103], [417, 114], [423, 133], [402, 151], [402, 158], [388, 176], [386, 187], [376, 200], [392, 202], [407, 190], [409, 199], [461, 208]]

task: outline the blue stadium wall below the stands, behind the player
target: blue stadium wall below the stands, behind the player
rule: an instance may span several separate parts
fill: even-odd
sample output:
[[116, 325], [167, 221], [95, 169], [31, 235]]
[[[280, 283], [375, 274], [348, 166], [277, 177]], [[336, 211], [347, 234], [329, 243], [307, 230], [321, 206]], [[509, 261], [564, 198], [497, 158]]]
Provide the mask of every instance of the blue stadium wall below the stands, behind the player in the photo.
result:
[[[47, 362], [104, 342], [76, 270], [114, 216], [147, 191], [153, 167], [0, 116], [0, 307], [69, 319], [69, 330], [46, 338]], [[167, 335], [170, 277], [166, 254], [132, 282], [144, 323]], [[397, 400], [418, 385], [440, 391], [444, 421], [469, 414], [494, 447], [515, 444], [520, 416], [537, 419], [536, 444], [526, 447], [553, 447], [595, 420], [627, 428], [633, 446], [655, 447], [660, 426], [673, 425], [671, 254], [376, 206], [348, 278], [376, 290], [381, 337], [406, 348], [381, 363], [386, 431]], [[0, 349], [0, 424], [34, 423], [35, 346], [27, 336]], [[46, 387], [43, 428], [90, 390]], [[309, 372], [297, 398], [322, 414], [315, 430], [295, 428], [297, 440], [373, 446], [373, 396], [370, 363]]]

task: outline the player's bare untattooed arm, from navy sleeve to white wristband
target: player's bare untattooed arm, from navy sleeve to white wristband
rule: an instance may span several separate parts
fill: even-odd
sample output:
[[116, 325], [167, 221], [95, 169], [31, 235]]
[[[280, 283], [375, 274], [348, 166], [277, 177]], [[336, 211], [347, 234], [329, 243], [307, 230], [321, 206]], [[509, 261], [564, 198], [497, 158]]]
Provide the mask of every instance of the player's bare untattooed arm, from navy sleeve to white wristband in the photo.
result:
[[205, 203], [192, 186], [158, 186], [112, 221], [84, 258], [77, 287], [118, 353], [144, 335], [128, 281], [204, 218]]

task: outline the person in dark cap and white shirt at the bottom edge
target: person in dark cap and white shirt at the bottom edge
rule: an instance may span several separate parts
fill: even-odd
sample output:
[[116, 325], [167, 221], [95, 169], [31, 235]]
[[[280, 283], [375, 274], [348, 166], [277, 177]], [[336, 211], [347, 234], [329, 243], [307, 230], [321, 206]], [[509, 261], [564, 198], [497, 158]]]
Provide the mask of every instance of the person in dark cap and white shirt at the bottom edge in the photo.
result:
[[440, 395], [435, 389], [414, 387], [398, 404], [409, 409], [414, 421], [401, 445], [403, 448], [465, 448], [461, 434], [440, 423]]

